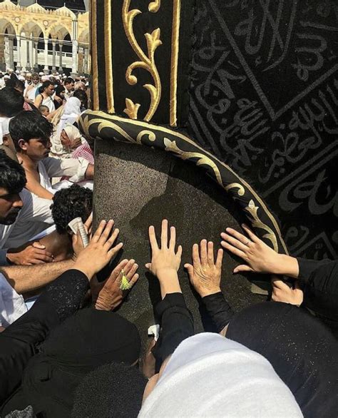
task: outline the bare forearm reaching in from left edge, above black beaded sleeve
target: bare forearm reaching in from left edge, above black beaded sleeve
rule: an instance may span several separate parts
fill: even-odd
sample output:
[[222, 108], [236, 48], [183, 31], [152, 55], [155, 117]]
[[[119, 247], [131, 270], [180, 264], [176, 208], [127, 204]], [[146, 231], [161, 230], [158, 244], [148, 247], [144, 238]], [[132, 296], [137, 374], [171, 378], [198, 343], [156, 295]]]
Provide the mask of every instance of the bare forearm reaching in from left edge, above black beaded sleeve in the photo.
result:
[[53, 282], [59, 275], [73, 267], [73, 260], [50, 262], [43, 265], [11, 265], [1, 267], [0, 272], [14, 290], [21, 294], [33, 292]]

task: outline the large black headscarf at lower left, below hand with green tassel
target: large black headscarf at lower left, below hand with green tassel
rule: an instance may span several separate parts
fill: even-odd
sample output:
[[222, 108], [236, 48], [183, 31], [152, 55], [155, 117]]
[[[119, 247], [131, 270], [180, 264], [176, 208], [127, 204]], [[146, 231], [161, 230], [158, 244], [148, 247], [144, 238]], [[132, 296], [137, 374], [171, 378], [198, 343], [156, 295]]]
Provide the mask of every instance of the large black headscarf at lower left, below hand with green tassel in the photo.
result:
[[131, 322], [114, 312], [80, 310], [53, 330], [41, 354], [30, 360], [21, 388], [3, 413], [26, 403], [36, 414], [67, 417], [86, 374], [111, 362], [132, 365], [139, 354], [140, 337]]

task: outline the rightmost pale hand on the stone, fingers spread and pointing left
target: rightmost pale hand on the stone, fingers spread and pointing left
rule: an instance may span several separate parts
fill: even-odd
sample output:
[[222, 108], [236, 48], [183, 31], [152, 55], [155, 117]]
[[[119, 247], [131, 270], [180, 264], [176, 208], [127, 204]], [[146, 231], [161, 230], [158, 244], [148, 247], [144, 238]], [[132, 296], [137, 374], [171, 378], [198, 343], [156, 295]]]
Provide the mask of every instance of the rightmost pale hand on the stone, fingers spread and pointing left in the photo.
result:
[[247, 262], [247, 264], [237, 265], [234, 273], [260, 272], [298, 277], [297, 259], [276, 253], [260, 240], [247, 225], [243, 224], [242, 228], [249, 238], [232, 228], [227, 228], [227, 233], [220, 234], [224, 240], [220, 243], [222, 247]]

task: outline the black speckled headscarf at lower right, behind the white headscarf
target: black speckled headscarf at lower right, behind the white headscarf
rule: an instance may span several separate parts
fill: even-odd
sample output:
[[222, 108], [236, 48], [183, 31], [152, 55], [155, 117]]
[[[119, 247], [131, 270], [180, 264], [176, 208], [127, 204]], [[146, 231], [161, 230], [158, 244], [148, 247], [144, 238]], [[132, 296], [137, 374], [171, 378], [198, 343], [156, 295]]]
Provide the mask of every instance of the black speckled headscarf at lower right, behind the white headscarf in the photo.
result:
[[338, 342], [317, 318], [293, 305], [263, 302], [237, 313], [227, 337], [270, 361], [305, 417], [336, 417]]

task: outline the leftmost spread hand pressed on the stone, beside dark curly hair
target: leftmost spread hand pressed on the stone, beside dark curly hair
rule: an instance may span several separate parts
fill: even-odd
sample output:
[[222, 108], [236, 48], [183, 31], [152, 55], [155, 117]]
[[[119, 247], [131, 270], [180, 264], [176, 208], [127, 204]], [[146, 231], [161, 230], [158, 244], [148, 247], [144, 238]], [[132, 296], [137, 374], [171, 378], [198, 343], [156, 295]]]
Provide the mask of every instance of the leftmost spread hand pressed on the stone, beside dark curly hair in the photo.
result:
[[[78, 254], [78, 258], [74, 263], [73, 268], [81, 270], [89, 280], [102, 270], [123, 246], [123, 243], [119, 243], [112, 248], [120, 232], [118, 229], [113, 230], [113, 225], [113, 220], [109, 220], [108, 223], [106, 223], [106, 220], [101, 220], [88, 247]], [[79, 233], [76, 239], [81, 240]]]

